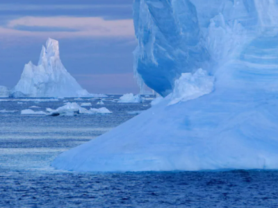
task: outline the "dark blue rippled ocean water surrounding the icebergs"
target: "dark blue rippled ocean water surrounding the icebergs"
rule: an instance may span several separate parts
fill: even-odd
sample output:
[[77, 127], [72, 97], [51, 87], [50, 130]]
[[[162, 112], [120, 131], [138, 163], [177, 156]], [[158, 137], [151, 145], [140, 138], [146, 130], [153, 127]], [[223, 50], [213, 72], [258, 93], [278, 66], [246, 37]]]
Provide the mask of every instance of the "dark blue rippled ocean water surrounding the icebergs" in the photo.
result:
[[[1, 98], [0, 207], [278, 207], [278, 171], [74, 173], [51, 168], [60, 153], [115, 128], [150, 107], [96, 100]], [[113, 114], [49, 117], [65, 102]], [[88, 108], [88, 107], [86, 107]]]

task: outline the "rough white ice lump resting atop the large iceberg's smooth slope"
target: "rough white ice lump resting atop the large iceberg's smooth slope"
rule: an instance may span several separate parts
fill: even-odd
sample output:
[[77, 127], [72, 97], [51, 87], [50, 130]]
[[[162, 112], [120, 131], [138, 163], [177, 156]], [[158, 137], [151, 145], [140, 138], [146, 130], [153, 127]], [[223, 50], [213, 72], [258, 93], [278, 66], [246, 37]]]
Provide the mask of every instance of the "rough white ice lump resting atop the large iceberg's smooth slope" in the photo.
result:
[[213, 87], [213, 76], [208, 76], [208, 73], [203, 69], [198, 69], [195, 73], [182, 73], [181, 77], [175, 82], [169, 105], [210, 94], [213, 92]]

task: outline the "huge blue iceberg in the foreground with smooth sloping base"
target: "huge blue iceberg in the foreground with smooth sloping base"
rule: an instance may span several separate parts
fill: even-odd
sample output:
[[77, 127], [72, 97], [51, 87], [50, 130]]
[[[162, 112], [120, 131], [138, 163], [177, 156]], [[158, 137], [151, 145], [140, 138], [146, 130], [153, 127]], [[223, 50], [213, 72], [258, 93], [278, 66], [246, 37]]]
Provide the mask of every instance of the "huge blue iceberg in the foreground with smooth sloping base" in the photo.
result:
[[134, 24], [136, 73], [165, 98], [53, 166], [277, 169], [278, 0], [136, 0]]

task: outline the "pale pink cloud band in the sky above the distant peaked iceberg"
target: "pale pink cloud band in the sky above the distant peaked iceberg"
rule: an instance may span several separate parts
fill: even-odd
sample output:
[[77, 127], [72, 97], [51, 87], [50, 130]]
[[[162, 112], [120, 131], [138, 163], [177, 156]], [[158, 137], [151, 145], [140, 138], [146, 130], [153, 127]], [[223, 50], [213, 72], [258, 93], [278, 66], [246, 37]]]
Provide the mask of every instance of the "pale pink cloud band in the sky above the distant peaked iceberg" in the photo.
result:
[[[68, 28], [74, 31], [17, 31], [18, 26]], [[134, 37], [132, 19], [105, 20], [100, 17], [22, 17], [0, 27], [0, 37]]]

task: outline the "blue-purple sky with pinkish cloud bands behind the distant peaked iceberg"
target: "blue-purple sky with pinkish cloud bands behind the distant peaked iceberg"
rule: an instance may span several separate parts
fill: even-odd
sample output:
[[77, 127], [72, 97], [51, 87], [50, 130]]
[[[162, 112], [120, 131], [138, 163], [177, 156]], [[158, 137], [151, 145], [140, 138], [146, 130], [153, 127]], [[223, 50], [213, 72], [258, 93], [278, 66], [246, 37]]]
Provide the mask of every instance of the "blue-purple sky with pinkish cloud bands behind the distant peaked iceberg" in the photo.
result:
[[133, 0], [1, 0], [0, 85], [14, 87], [48, 37], [60, 59], [91, 93], [138, 93]]

